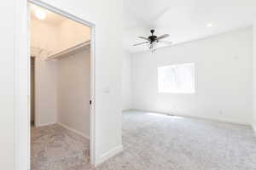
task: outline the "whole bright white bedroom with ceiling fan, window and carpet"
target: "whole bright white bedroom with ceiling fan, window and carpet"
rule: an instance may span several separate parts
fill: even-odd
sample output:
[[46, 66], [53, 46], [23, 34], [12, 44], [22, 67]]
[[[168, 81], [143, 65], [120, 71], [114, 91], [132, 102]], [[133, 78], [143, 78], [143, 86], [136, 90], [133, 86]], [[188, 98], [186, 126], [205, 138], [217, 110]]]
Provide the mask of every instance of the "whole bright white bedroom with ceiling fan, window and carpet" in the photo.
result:
[[255, 9], [253, 1], [124, 1], [126, 150], [116, 162], [256, 168]]

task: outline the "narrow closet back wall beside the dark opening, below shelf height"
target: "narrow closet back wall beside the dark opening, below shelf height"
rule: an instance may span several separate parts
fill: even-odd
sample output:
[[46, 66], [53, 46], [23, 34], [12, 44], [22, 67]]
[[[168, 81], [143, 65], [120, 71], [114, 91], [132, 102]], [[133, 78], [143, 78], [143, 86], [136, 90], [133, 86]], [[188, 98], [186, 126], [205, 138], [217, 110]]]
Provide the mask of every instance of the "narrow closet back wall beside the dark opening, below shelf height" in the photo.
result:
[[35, 125], [56, 123], [56, 62], [35, 58]]

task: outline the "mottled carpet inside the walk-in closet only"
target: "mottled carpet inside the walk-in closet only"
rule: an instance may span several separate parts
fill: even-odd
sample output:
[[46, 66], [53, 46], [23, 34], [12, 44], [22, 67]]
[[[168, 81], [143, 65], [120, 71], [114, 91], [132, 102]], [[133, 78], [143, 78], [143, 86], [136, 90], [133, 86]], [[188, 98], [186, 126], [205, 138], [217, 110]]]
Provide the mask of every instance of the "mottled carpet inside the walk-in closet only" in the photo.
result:
[[89, 165], [89, 140], [58, 124], [32, 127], [32, 170], [71, 170]]

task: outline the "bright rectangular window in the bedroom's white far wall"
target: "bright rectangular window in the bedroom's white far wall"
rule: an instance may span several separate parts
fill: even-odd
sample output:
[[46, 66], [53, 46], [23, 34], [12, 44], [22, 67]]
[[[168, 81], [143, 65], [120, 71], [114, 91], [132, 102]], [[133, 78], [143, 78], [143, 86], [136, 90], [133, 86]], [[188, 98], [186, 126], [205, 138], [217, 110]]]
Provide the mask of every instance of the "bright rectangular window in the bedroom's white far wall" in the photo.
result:
[[167, 65], [158, 68], [159, 93], [195, 93], [195, 64]]

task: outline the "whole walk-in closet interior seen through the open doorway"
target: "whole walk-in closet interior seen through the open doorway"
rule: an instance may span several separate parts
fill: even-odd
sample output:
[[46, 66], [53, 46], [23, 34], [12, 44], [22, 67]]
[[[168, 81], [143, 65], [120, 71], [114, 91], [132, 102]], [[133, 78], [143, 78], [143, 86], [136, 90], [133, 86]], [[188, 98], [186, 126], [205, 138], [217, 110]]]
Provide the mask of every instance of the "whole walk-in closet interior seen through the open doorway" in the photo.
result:
[[31, 169], [74, 169], [90, 161], [90, 27], [30, 8]]

